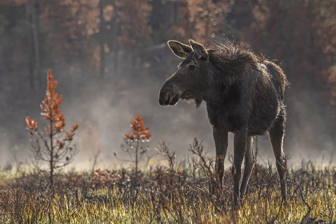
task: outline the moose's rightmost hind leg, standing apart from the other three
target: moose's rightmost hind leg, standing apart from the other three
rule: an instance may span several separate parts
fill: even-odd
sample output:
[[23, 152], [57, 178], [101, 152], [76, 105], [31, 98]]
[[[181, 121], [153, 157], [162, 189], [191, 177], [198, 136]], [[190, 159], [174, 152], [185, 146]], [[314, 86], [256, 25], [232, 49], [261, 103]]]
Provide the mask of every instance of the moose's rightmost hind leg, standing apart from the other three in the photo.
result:
[[287, 201], [286, 190], [286, 164], [283, 152], [283, 140], [285, 135], [286, 111], [284, 108], [275, 121], [274, 125], [269, 129], [268, 136], [272, 145], [272, 149], [276, 159], [276, 166], [280, 177], [282, 200]]

